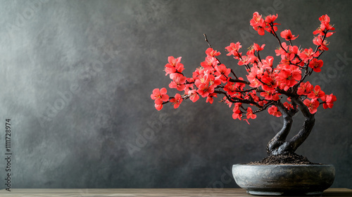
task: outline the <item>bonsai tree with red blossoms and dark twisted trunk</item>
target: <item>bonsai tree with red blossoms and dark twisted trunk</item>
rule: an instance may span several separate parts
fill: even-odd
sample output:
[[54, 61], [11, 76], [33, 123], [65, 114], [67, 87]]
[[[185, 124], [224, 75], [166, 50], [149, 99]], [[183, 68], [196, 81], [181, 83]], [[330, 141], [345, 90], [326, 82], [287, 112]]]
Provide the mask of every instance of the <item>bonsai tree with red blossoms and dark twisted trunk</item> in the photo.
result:
[[[308, 81], [313, 72], [321, 71], [323, 61], [319, 58], [329, 50], [326, 39], [334, 34], [334, 27], [330, 24], [329, 16], [322, 15], [319, 18], [320, 26], [313, 32], [313, 44], [316, 47], [306, 49], [294, 45], [293, 41], [298, 36], [292, 34], [291, 30], [283, 30], [278, 35], [277, 25], [280, 24], [275, 23], [276, 19], [277, 14], [263, 18], [255, 12], [250, 21], [250, 25], [258, 34], [269, 32], [277, 39], [279, 46], [275, 54], [281, 61], [276, 66], [273, 65], [273, 56], [260, 56], [265, 44], [253, 43], [246, 54], [243, 54], [240, 52], [239, 42], [231, 43], [225, 47], [227, 56], [233, 56], [238, 61], [237, 64], [248, 72], [246, 77], [237, 77], [232, 68], [220, 63], [220, 52], [210, 46], [204, 34], [209, 46], [206, 49], [206, 58], [191, 77], [182, 73], [184, 65], [180, 63], [181, 57], [168, 57], [165, 72], [171, 79], [169, 87], [182, 93], [170, 97], [165, 87], [153, 89], [151, 98], [155, 108], [161, 110], [167, 103], [178, 108], [182, 101], [188, 98], [196, 102], [203, 97], [207, 103], [213, 103], [214, 97], [221, 96], [221, 101], [232, 109], [234, 119], [249, 122], [249, 119], [256, 118], [257, 113], [267, 110], [270, 115], [283, 116], [284, 120], [282, 129], [268, 143], [268, 155], [294, 153], [312, 131], [318, 106], [332, 108], [334, 101], [337, 101], [336, 96], [325, 94], [319, 85], [313, 86]], [[292, 117], [299, 111], [306, 120], [298, 133], [287, 140]]]

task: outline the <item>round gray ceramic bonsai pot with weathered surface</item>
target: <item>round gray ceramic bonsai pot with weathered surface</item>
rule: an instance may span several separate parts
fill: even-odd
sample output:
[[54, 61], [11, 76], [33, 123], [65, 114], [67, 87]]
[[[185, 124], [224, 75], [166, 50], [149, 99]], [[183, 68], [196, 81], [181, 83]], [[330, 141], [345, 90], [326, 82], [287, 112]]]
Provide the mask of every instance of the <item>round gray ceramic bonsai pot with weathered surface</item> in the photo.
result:
[[334, 182], [333, 165], [232, 166], [234, 180], [253, 195], [320, 195]]

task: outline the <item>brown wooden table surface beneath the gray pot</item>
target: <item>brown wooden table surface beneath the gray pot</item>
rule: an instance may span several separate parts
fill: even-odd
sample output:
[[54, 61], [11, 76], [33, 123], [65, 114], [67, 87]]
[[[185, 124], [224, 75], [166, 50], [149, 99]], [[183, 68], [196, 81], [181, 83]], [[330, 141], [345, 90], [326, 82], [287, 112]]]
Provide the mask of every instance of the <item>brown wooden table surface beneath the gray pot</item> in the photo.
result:
[[[11, 189], [0, 190], [0, 196], [39, 197], [39, 196], [251, 196], [244, 189]], [[327, 189], [323, 196], [352, 196], [352, 189]], [[253, 197], [253, 196], [252, 196]]]

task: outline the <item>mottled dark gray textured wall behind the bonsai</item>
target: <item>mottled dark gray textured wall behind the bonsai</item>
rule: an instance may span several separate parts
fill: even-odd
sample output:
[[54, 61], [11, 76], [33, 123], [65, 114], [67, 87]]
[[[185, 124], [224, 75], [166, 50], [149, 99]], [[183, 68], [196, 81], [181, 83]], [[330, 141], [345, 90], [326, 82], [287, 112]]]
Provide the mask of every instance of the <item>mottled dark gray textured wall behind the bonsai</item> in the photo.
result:
[[[205, 99], [158, 112], [150, 94], [168, 87], [168, 56], [182, 56], [187, 75], [199, 66], [203, 33], [244, 76], [224, 48], [256, 41], [272, 53], [270, 34], [249, 27], [259, 11], [278, 13], [279, 30], [299, 34], [295, 43], [306, 48], [314, 47], [320, 15], [335, 24], [312, 80], [338, 101], [320, 107], [297, 152], [334, 164], [333, 186], [352, 188], [351, 8], [351, 1], [0, 1], [0, 125], [11, 118], [12, 187], [235, 187], [232, 164], [264, 158], [281, 119], [264, 112], [247, 125]], [[4, 126], [0, 132], [5, 158]], [[0, 177], [6, 165], [1, 159]]]

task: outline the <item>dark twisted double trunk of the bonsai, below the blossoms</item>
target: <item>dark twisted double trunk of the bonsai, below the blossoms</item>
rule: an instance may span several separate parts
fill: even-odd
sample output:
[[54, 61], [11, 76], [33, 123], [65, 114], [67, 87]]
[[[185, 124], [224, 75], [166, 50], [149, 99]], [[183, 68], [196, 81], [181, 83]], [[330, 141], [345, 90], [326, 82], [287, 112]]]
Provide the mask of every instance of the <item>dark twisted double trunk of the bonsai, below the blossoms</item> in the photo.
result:
[[292, 113], [287, 110], [287, 108], [285, 108], [284, 105], [278, 101], [276, 106], [284, 117], [284, 125], [282, 126], [282, 129], [269, 141], [267, 146], [268, 155], [294, 153], [294, 151], [296, 151], [297, 148], [303, 144], [303, 141], [307, 139], [313, 129], [315, 123], [314, 114], [309, 112], [308, 107], [303, 103], [301, 98], [291, 98], [291, 101], [294, 106], [298, 106], [304, 117], [306, 117], [306, 120], [304, 120], [299, 132], [289, 141], [286, 141], [293, 122], [292, 117], [296, 112]]

